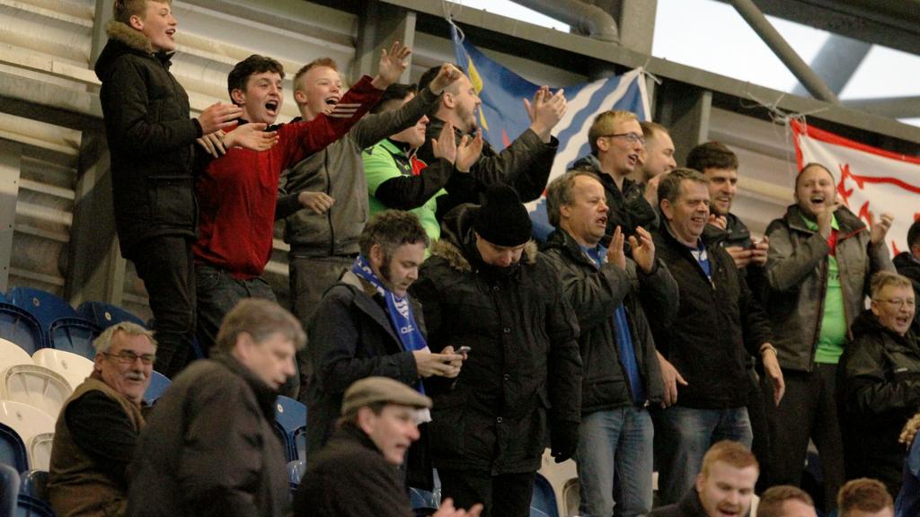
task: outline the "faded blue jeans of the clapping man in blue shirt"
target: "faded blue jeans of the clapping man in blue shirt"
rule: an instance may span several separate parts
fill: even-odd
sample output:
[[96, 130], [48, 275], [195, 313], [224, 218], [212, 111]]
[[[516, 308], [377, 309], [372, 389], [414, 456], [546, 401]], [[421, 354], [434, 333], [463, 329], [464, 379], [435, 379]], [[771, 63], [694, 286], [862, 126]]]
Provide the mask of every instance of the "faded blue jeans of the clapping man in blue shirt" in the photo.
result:
[[[581, 417], [579, 433], [575, 459], [581, 515], [632, 517], [649, 513], [655, 435], [649, 411], [635, 407], [595, 411]], [[616, 497], [614, 472], [619, 479]]]

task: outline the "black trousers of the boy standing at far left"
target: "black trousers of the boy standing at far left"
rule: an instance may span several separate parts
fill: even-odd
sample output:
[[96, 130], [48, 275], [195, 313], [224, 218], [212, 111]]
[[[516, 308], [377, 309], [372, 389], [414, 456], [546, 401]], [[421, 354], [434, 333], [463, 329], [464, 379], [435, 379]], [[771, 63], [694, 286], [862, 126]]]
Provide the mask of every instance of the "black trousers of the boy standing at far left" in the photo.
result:
[[156, 364], [169, 378], [191, 357], [195, 333], [195, 274], [191, 243], [183, 236], [158, 236], [131, 250], [137, 276], [144, 281], [154, 313]]

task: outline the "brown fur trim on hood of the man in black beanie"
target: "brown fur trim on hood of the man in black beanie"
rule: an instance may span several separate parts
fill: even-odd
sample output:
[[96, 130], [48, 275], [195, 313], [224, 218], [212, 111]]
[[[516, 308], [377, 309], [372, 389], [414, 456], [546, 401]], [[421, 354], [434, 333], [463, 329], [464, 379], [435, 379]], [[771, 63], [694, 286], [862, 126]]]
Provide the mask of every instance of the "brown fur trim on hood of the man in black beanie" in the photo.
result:
[[[455, 270], [472, 271], [472, 263], [480, 260], [473, 232], [478, 211], [478, 205], [466, 203], [446, 213], [441, 224], [441, 238], [431, 245], [431, 256], [446, 260]], [[530, 240], [523, 249], [523, 263], [534, 264], [536, 255], [536, 243]]]

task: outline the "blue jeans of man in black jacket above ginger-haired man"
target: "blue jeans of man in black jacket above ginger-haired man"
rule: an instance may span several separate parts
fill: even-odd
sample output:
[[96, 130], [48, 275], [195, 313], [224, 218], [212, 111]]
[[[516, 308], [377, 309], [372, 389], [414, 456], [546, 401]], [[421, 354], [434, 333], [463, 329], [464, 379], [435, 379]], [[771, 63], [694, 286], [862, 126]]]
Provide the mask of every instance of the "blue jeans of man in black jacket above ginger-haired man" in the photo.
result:
[[709, 446], [722, 440], [751, 447], [746, 408], [693, 409], [681, 406], [655, 412], [655, 463], [662, 505], [681, 499], [694, 484]]

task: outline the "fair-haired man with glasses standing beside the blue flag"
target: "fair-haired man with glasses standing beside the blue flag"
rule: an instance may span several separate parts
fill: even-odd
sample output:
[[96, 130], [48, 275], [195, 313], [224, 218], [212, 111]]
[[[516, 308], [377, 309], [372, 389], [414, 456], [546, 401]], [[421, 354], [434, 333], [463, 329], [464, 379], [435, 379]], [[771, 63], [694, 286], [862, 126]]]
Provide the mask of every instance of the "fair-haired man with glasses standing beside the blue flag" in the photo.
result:
[[628, 178], [642, 165], [645, 136], [635, 113], [604, 111], [588, 130], [591, 154], [576, 161], [572, 168], [590, 170], [604, 184], [610, 208], [607, 231], [601, 244], [609, 246], [617, 226], [624, 236], [636, 235], [636, 227], [651, 231], [658, 226], [658, 214], [644, 197], [644, 189]]

